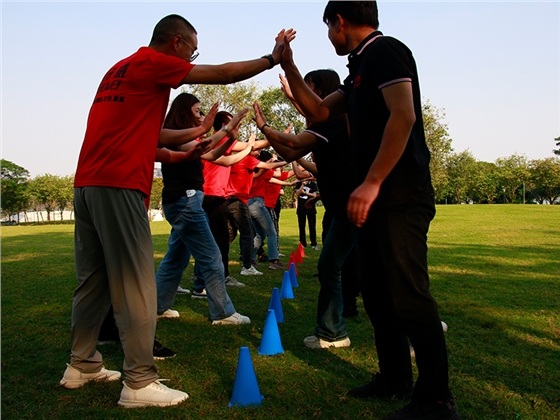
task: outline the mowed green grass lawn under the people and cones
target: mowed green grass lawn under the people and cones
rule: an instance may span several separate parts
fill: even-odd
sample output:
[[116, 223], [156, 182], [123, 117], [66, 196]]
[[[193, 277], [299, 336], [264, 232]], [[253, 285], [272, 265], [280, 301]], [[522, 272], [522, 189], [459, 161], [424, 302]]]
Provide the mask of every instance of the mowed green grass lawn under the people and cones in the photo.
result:
[[[320, 209], [321, 212], [322, 209]], [[560, 418], [560, 207], [438, 206], [429, 233], [432, 292], [449, 325], [450, 381], [465, 419]], [[320, 236], [320, 215], [318, 235]], [[281, 251], [298, 244], [294, 210], [283, 210]], [[155, 268], [169, 226], [152, 223]], [[212, 326], [205, 301], [178, 296], [176, 320], [161, 320], [157, 338], [177, 351], [158, 362], [169, 386], [190, 394], [177, 407], [117, 407], [120, 383], [77, 390], [58, 386], [69, 361], [72, 293], [76, 285], [73, 226], [2, 228], [2, 417], [6, 419], [381, 419], [399, 401], [359, 401], [348, 389], [377, 371], [372, 327], [363, 312], [348, 321], [352, 346], [316, 351], [313, 332], [319, 252], [298, 266], [295, 299], [283, 300], [284, 354], [259, 356], [266, 311], [283, 273], [243, 278], [239, 247], [230, 270], [245, 288], [228, 289], [245, 326]], [[287, 260], [287, 257], [285, 258]], [[182, 286], [191, 288], [192, 267]], [[240, 346], [251, 352], [260, 407], [228, 408]], [[105, 365], [121, 369], [118, 345], [100, 348]]]

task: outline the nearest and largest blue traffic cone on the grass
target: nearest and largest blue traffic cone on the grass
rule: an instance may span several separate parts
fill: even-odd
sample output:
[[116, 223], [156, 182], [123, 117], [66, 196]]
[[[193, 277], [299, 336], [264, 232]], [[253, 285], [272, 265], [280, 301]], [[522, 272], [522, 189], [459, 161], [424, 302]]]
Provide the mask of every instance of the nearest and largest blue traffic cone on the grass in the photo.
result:
[[255, 369], [253, 369], [249, 347], [241, 347], [239, 349], [239, 361], [237, 362], [233, 392], [228, 407], [233, 407], [234, 405], [238, 407], [261, 405], [263, 399], [264, 395], [261, 395], [259, 391], [259, 384], [257, 383]]

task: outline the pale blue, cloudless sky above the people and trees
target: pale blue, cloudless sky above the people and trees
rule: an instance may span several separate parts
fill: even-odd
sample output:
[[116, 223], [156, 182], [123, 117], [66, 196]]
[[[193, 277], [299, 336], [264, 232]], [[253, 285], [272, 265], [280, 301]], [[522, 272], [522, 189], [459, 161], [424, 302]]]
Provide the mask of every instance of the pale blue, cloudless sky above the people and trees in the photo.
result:
[[[196, 63], [268, 54], [294, 28], [302, 74], [332, 68], [326, 1], [1, 3], [1, 155], [31, 177], [75, 172], [87, 115], [105, 72], [180, 14], [198, 32]], [[412, 50], [423, 100], [443, 110], [455, 152], [494, 162], [553, 156], [560, 136], [558, 1], [378, 1], [380, 30]], [[252, 80], [279, 86], [280, 66]], [[172, 92], [174, 97], [178, 91]]]

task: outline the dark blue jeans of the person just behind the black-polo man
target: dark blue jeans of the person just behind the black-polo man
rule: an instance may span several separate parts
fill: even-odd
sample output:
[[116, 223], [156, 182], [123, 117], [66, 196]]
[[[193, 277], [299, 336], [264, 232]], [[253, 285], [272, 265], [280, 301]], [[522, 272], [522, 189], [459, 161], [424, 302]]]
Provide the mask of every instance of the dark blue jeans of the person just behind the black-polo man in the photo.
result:
[[346, 321], [342, 317], [344, 301], [340, 272], [346, 257], [354, 248], [354, 236], [350, 222], [334, 218], [319, 257], [319, 299], [317, 302], [317, 326], [315, 335], [336, 341], [345, 338]]

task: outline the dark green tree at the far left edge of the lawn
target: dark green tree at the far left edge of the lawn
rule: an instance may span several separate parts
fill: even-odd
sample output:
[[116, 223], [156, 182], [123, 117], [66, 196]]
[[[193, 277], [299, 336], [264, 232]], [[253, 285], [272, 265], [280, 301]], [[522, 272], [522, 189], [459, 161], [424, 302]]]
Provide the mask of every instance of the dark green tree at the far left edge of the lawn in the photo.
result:
[[29, 182], [29, 171], [9, 160], [1, 160], [2, 182], [2, 213], [8, 218], [27, 209], [29, 198], [27, 196], [27, 187]]

